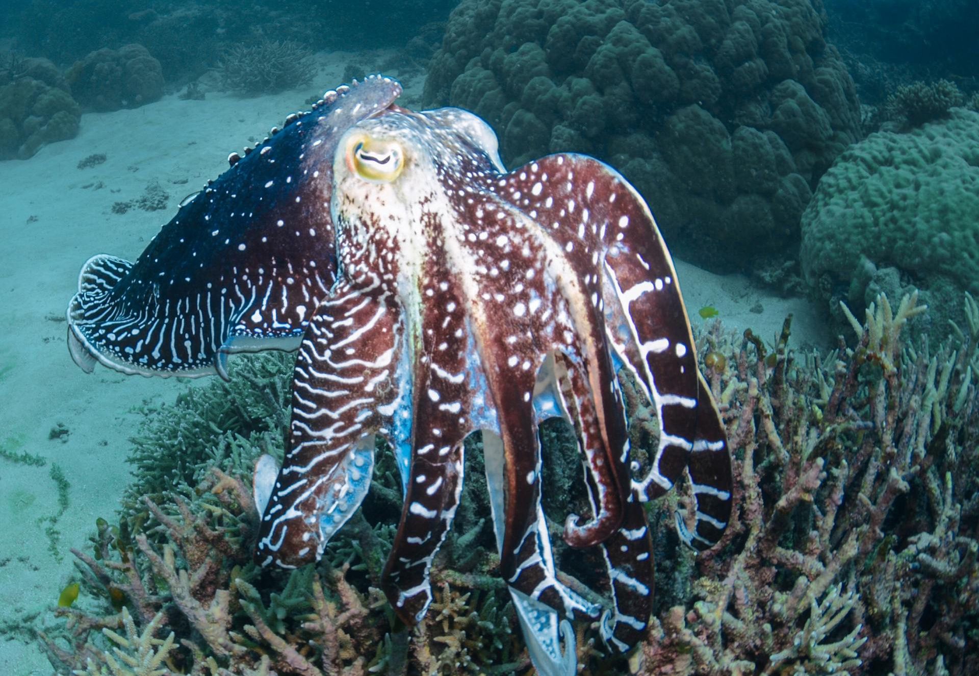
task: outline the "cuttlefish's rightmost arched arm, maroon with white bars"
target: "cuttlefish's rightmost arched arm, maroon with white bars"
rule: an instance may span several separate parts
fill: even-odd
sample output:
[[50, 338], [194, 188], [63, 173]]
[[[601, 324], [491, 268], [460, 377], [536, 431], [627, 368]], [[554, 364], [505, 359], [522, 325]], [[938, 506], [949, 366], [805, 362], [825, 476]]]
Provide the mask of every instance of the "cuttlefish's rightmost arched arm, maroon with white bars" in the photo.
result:
[[655, 499], [688, 470], [698, 522], [695, 535], [685, 528], [680, 535], [697, 549], [711, 547], [730, 514], [730, 455], [697, 367], [673, 260], [648, 206], [615, 169], [581, 155], [515, 169], [501, 194], [540, 223], [554, 223], [552, 234], [565, 249], [590, 254], [578, 265], [580, 274], [600, 279], [595, 302], [608, 343], [660, 423], [657, 448], [639, 462], [632, 489], [639, 500]]

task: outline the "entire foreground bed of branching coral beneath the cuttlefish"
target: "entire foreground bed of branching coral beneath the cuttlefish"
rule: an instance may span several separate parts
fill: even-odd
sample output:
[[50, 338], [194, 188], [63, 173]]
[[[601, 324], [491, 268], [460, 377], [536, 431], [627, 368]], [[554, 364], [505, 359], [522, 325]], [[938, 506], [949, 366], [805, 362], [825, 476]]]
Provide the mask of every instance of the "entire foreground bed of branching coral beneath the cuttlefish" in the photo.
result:
[[[924, 310], [914, 296], [896, 309], [880, 296], [862, 322], [844, 309], [854, 347], [841, 338], [825, 355], [792, 351], [789, 320], [770, 348], [750, 331], [725, 334], [720, 322], [701, 332], [738, 449], [731, 525], [720, 548], [695, 557], [669, 528], [675, 507], [692, 509], [689, 487], [651, 506], [658, 607], [649, 640], [627, 664], [580, 625], [583, 674], [975, 673], [979, 306], [966, 295], [966, 322], [934, 350], [905, 340]], [[400, 626], [374, 587], [399, 511], [389, 453], [320, 564], [256, 569], [246, 483], [257, 454], [282, 453], [288, 365], [274, 354], [233, 362], [230, 383], [189, 388], [175, 406], [150, 411], [118, 525], [101, 521], [93, 551], [74, 552], [83, 593], [55, 610], [64, 627], [40, 634], [56, 670], [524, 673], [529, 660], [492, 574], [498, 558], [479, 508], [460, 509], [463, 526], [434, 561], [436, 600], [418, 627]], [[642, 415], [624, 385], [642, 421], [630, 430], [633, 448], [652, 448], [656, 417]], [[545, 433], [564, 445], [550, 445], [545, 459], [573, 457], [569, 433]], [[476, 463], [469, 476], [481, 470], [479, 455], [467, 454]], [[463, 506], [480, 490], [467, 489]], [[560, 522], [552, 527], [557, 544]], [[593, 584], [589, 553], [559, 549]]]

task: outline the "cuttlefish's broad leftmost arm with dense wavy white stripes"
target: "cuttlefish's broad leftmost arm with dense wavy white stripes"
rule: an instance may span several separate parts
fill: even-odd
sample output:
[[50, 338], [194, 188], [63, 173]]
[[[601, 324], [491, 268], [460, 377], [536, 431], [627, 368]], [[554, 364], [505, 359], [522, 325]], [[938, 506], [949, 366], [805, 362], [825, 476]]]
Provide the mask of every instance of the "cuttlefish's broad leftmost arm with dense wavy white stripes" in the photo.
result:
[[403, 322], [390, 300], [376, 286], [340, 283], [306, 328], [285, 462], [274, 480], [274, 462], [256, 465], [259, 565], [318, 560], [367, 494], [374, 435], [395, 427], [405, 394], [397, 368]]

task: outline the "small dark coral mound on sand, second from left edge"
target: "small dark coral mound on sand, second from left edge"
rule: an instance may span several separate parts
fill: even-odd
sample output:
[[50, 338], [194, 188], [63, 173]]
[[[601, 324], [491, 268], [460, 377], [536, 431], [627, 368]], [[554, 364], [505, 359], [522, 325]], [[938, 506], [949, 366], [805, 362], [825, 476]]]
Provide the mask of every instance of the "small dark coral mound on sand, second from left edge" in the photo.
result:
[[160, 62], [139, 44], [90, 52], [66, 77], [78, 102], [94, 111], [138, 108], [163, 96]]

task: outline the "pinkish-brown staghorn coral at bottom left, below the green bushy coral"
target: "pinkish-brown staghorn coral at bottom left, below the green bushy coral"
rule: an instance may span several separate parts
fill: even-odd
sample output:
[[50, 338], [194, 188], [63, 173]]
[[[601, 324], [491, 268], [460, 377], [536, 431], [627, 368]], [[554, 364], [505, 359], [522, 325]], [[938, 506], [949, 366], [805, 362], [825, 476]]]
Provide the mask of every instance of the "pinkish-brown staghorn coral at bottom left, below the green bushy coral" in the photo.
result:
[[[415, 650], [409, 654], [407, 636], [403, 629], [396, 633], [394, 615], [383, 594], [370, 586], [380, 568], [370, 570], [369, 562], [383, 561], [383, 555], [371, 550], [389, 545], [372, 537], [365, 521], [352, 519], [351, 528], [344, 533], [359, 541], [358, 552], [366, 550], [365, 576], [351, 572], [356, 567], [351, 565], [355, 557], [351, 555], [339, 567], [326, 563], [284, 578], [262, 578], [248, 560], [250, 543], [233, 535], [234, 527], [228, 525], [244, 527], [243, 521], [256, 518], [245, 486], [215, 470], [212, 480], [195, 491], [203, 499], [193, 507], [176, 495], [169, 496], [180, 518], [163, 513], [147, 499], [146, 507], [158, 526], [144, 522], [145, 532], [135, 538], [103, 528], [99, 555], [73, 551], [81, 563], [87, 594], [101, 597], [107, 605], [114, 599], [126, 605], [121, 615], [99, 616], [75, 606], [56, 611], [69, 620], [67, 636], [62, 639], [68, 640], [70, 650], [60, 645], [56, 635], [42, 633], [41, 639], [60, 673], [82, 664], [109, 664], [112, 649], [99, 641], [97, 630], [112, 638], [109, 630], [125, 622], [129, 606], [136, 618], [130, 620], [134, 626], [150, 626], [148, 617], [159, 622], [163, 616], [165, 625], [178, 632], [179, 645], [167, 657], [169, 668], [176, 673], [231, 676], [266, 673], [261, 671], [264, 668], [279, 676], [353, 676], [378, 665], [409, 662], [415, 673], [419, 669], [458, 673], [460, 664], [466, 671], [480, 673], [501, 655], [520, 650], [512, 608], [503, 585], [487, 574], [488, 567], [464, 574], [456, 572], [459, 566], [454, 564], [450, 570], [442, 565], [433, 569], [442, 589], [436, 606], [439, 612], [415, 630]], [[156, 545], [153, 540], [164, 544]], [[344, 541], [338, 538], [338, 543]], [[458, 548], [467, 546], [463, 540]], [[329, 553], [327, 558], [331, 558]], [[497, 560], [489, 561], [489, 566], [495, 564]], [[352, 586], [349, 577], [363, 580], [366, 593]], [[526, 658], [513, 660], [514, 668], [528, 664]], [[103, 676], [88, 668], [90, 673], [85, 676]], [[154, 672], [147, 676], [150, 673]], [[137, 672], [137, 676], [144, 675]]]

